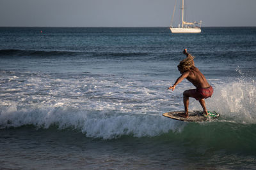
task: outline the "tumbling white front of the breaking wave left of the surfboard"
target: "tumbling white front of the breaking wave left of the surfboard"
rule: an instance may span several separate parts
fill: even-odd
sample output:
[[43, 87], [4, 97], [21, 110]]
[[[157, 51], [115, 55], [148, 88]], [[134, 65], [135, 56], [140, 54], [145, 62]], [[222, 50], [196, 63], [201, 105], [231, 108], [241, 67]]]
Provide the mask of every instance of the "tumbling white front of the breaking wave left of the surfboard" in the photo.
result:
[[113, 139], [122, 135], [136, 137], [157, 136], [170, 130], [181, 131], [184, 124], [158, 115], [117, 114], [106, 111], [72, 111], [68, 108], [53, 110], [35, 108], [17, 111], [10, 106], [1, 112], [1, 127], [35, 125], [49, 128], [58, 125], [60, 129], [73, 127], [92, 138]]

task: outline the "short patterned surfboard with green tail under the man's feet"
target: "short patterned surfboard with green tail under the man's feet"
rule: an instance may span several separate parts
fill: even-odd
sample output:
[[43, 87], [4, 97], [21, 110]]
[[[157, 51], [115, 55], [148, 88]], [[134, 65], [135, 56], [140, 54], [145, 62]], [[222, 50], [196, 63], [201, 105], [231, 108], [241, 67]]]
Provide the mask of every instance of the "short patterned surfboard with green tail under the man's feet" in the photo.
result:
[[204, 122], [207, 120], [211, 120], [212, 118], [218, 118], [220, 117], [219, 113], [216, 113], [215, 111], [208, 111], [208, 114], [212, 115], [210, 118], [204, 117], [204, 112], [203, 111], [198, 111], [198, 110], [193, 110], [188, 112], [188, 118], [180, 117], [179, 113], [184, 113], [183, 111], [170, 111], [163, 113], [164, 117], [172, 118], [175, 120], [180, 120], [184, 122]]

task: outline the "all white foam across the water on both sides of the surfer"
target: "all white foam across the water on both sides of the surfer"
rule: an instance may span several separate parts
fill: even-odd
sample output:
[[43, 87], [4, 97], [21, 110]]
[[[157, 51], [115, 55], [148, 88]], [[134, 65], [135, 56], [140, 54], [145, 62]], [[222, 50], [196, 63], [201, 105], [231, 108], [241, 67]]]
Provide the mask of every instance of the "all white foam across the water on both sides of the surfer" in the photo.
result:
[[[206, 99], [209, 110], [220, 112], [228, 121], [256, 123], [255, 81], [211, 80], [211, 84], [214, 94]], [[169, 81], [109, 75], [54, 78], [49, 74], [24, 73], [19, 81], [1, 84], [5, 95], [0, 96], [0, 127], [58, 125], [60, 129], [72, 127], [88, 137], [104, 139], [182, 131], [186, 123], [161, 115], [183, 110], [182, 92], [195, 87], [182, 81], [172, 92], [167, 90], [169, 85]], [[193, 99], [189, 106], [192, 110], [201, 109]]]

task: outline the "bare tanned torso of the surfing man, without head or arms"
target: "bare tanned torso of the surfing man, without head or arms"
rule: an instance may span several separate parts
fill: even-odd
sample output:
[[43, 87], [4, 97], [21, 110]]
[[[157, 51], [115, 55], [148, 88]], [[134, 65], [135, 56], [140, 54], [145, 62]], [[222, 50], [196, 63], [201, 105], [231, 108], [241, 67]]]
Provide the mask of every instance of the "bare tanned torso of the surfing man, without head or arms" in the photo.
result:
[[204, 74], [202, 74], [198, 68], [191, 67], [189, 69], [189, 74], [186, 77], [188, 81], [190, 81], [196, 88], [207, 88], [210, 87], [209, 83], [207, 82]]

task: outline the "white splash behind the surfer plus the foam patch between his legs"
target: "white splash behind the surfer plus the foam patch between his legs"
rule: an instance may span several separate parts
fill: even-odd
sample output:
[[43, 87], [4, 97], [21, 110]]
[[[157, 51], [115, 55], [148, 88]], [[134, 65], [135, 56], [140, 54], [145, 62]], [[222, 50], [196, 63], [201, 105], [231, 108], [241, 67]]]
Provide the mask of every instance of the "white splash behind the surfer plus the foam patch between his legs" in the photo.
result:
[[[208, 110], [215, 110], [221, 117], [235, 122], [256, 123], [256, 83], [254, 80], [235, 78], [226, 83], [215, 83], [214, 94], [206, 99]], [[202, 109], [193, 101], [193, 109]]]

